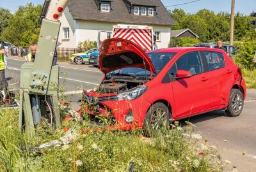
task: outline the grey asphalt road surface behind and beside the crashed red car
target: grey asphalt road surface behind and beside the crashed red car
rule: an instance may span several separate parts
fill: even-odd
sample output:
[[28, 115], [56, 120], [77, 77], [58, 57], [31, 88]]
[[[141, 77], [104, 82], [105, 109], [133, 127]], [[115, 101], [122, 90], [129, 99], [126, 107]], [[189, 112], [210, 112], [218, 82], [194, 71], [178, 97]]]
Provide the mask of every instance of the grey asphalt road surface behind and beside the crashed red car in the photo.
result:
[[[17, 57], [8, 59], [6, 77], [10, 84], [20, 82], [20, 66], [23, 63]], [[70, 65], [65, 62], [60, 62], [59, 65], [61, 87], [66, 94], [77, 92], [70, 100], [73, 102], [79, 99], [81, 88], [92, 89], [100, 83], [103, 76], [98, 69], [90, 66]], [[19, 89], [19, 83], [12, 87]], [[256, 171], [256, 90], [247, 91], [244, 110], [239, 117], [228, 117], [223, 111], [213, 111], [186, 120], [196, 125], [196, 132], [209, 138], [212, 145], [218, 146], [223, 160], [232, 162], [232, 166], [226, 171], [232, 171], [232, 167], [238, 171]]]

